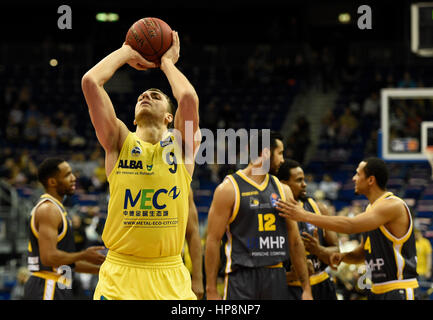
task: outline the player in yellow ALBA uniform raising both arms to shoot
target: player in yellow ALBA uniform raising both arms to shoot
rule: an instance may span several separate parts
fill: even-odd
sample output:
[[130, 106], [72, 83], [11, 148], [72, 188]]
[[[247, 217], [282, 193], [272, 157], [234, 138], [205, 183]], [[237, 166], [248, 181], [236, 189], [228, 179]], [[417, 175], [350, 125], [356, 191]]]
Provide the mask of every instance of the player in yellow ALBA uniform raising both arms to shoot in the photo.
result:
[[[109, 249], [101, 266], [94, 299], [196, 299], [181, 251], [188, 220], [188, 194], [194, 159], [186, 149], [200, 142], [185, 138], [185, 122], [198, 127], [198, 97], [177, 69], [180, 41], [172, 32], [172, 45], [160, 63], [150, 62], [124, 44], [82, 78], [82, 89], [96, 135], [105, 150], [110, 201], [102, 240]], [[158, 89], [144, 91], [135, 105], [136, 131], [116, 117], [104, 84], [121, 66], [137, 70], [159, 66], [171, 86], [178, 108]], [[181, 139], [167, 130], [174, 121]], [[182, 140], [182, 141], [180, 141]], [[164, 148], [183, 146], [179, 153]], [[183, 161], [179, 158], [182, 157]], [[132, 165], [134, 164], [134, 165]]]

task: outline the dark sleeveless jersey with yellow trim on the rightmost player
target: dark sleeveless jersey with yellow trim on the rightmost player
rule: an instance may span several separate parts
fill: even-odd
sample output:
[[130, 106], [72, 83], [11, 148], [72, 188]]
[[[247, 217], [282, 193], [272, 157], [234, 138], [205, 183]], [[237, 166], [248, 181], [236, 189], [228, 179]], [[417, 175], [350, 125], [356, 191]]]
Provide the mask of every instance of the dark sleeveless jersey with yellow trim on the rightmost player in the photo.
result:
[[393, 236], [385, 226], [363, 232], [365, 263], [367, 271], [371, 272], [371, 291], [376, 294], [418, 287], [413, 220], [406, 203], [387, 192], [373, 205], [368, 205], [367, 212], [378, 202], [388, 199], [398, 199], [404, 204], [410, 223], [407, 233], [401, 238]]

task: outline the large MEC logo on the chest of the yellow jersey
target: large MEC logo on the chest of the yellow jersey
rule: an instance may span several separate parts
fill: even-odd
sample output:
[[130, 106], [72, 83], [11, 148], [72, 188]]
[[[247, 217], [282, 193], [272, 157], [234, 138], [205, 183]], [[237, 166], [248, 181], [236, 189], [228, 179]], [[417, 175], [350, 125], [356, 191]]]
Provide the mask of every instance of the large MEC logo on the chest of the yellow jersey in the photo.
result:
[[[165, 195], [165, 197], [163, 196]], [[176, 199], [180, 195], [180, 188], [174, 186], [170, 190], [161, 188], [155, 189], [142, 189], [138, 191], [137, 194], [133, 194], [130, 189], [125, 190], [125, 200], [123, 203], [123, 209], [128, 209], [128, 207], [135, 207], [140, 205], [141, 210], [157, 209], [162, 210], [167, 207], [163, 198], [167, 197], [171, 199]]]

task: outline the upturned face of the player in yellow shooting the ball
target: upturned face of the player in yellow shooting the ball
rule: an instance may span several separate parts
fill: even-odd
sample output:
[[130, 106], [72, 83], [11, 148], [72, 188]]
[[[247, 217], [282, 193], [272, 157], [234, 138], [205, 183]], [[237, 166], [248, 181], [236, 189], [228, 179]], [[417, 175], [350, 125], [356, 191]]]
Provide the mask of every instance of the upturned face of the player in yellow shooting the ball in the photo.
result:
[[135, 105], [135, 121], [143, 118], [164, 119], [169, 115], [168, 100], [161, 92], [147, 90], [137, 99]]

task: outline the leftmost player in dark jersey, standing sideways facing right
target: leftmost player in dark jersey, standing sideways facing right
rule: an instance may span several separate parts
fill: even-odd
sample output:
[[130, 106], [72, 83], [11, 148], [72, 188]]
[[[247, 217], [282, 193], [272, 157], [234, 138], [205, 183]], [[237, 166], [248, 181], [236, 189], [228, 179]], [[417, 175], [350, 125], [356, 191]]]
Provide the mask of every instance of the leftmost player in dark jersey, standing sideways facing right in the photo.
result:
[[75, 191], [75, 176], [63, 159], [48, 158], [38, 168], [45, 194], [31, 212], [26, 300], [72, 299], [73, 271], [98, 273], [105, 256], [94, 246], [75, 252], [71, 220], [63, 207], [66, 195]]

